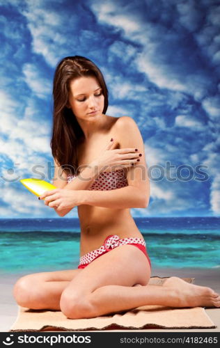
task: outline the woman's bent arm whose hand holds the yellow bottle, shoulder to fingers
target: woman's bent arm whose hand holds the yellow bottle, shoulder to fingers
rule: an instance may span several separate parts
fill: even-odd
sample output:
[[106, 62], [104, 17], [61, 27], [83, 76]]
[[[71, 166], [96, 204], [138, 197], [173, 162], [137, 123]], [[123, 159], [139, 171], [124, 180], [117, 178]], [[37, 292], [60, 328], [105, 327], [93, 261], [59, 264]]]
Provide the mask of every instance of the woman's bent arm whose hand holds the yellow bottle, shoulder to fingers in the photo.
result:
[[[125, 133], [126, 132], [126, 133]], [[134, 167], [127, 169], [127, 187], [111, 191], [65, 190], [58, 189], [54, 195], [45, 193], [49, 207], [58, 205], [57, 209], [77, 205], [94, 205], [112, 209], [148, 207], [150, 183], [146, 167], [143, 139], [136, 122], [127, 116], [120, 117], [116, 122], [116, 136], [120, 139], [121, 148], [137, 148], [142, 156]], [[54, 190], [55, 191], [55, 190]], [[41, 196], [41, 197], [42, 197]], [[52, 201], [51, 201], [52, 200]]]

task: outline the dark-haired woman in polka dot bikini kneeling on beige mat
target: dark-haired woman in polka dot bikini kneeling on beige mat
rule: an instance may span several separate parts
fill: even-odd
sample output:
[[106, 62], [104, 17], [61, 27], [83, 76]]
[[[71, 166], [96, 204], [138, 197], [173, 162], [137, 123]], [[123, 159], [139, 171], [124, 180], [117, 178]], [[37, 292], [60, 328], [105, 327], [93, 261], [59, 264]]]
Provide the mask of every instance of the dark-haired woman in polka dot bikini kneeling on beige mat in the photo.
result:
[[[220, 306], [220, 296], [171, 277], [149, 285], [150, 259], [129, 208], [148, 206], [143, 140], [134, 120], [106, 115], [108, 91], [97, 66], [66, 57], [54, 75], [54, 185], [40, 199], [65, 216], [77, 207], [79, 267], [20, 278], [20, 306], [90, 318], [144, 305]], [[34, 285], [34, 286], [33, 286]], [[141, 286], [135, 286], [141, 285]]]

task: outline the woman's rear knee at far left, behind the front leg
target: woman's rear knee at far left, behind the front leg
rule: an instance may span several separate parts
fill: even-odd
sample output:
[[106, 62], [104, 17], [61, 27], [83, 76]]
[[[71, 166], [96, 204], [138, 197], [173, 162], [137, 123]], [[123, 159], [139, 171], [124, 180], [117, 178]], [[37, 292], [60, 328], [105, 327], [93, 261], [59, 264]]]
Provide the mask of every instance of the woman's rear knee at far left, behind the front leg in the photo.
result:
[[[19, 306], [32, 308], [33, 298], [36, 293], [36, 285], [33, 284], [31, 276], [19, 278], [13, 287], [13, 296]], [[34, 309], [34, 308], [33, 308]]]

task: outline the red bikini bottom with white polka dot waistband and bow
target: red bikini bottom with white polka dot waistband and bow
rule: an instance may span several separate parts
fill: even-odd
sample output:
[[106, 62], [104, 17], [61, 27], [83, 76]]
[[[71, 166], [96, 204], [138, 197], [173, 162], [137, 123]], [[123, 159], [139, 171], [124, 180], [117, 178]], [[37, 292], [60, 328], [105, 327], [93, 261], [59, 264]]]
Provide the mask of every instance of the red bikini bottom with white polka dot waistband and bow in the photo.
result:
[[[131, 244], [139, 248], [144, 253], [144, 255], [146, 255], [146, 258], [148, 259], [148, 262], [150, 264], [150, 258], [148, 256], [147, 249], [146, 249], [146, 242], [143, 239], [135, 238], [135, 237], [120, 239], [118, 235], [109, 235], [104, 240], [104, 244], [100, 246], [100, 248], [90, 251], [89, 253], [86, 253], [85, 255], [81, 256], [81, 258], [79, 259], [78, 269], [85, 268], [86, 266], [88, 266], [88, 264], [93, 262], [95, 259], [113, 250], [113, 248], [116, 248], [117, 246], [121, 246], [125, 244]], [[150, 267], [151, 267], [151, 264], [150, 264]]]

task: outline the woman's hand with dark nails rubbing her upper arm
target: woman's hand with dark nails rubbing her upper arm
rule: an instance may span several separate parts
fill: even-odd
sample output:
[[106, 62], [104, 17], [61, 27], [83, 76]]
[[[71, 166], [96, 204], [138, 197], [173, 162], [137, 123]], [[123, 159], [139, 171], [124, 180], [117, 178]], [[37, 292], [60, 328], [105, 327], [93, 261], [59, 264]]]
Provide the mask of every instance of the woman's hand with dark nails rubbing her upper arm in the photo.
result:
[[102, 150], [99, 157], [91, 163], [91, 166], [97, 166], [100, 171], [112, 167], [127, 168], [139, 163], [142, 154], [135, 148], [112, 149], [114, 141], [109, 141], [106, 148]]

